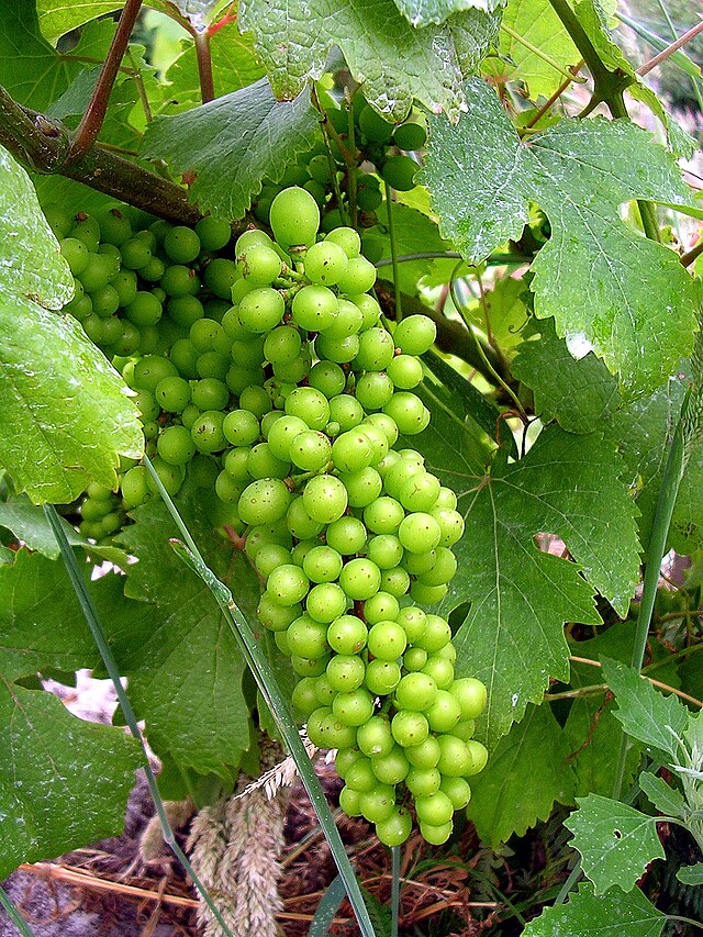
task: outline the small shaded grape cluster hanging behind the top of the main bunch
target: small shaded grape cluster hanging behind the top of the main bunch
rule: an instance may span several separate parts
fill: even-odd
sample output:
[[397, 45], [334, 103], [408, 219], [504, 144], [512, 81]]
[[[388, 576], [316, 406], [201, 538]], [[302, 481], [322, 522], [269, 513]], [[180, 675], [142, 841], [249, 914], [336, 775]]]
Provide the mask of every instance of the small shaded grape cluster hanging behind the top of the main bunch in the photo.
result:
[[[278, 192], [290, 186], [300, 186], [313, 196], [323, 211], [321, 226], [324, 232], [343, 226], [348, 214], [344, 194], [348, 191], [348, 166], [342, 145], [352, 152], [357, 164], [355, 198], [362, 230], [362, 249], [369, 259], [376, 261], [382, 254], [381, 241], [373, 236], [378, 221], [376, 210], [383, 202], [381, 185], [386, 181], [392, 189], [403, 192], [414, 188], [414, 176], [420, 166], [410, 154], [422, 149], [427, 134], [412, 115], [401, 124], [389, 123], [367, 103], [360, 91], [356, 92], [348, 107], [344, 101], [337, 104], [325, 97], [325, 114], [331, 126], [330, 150], [321, 135], [309, 153], [288, 167], [280, 181], [264, 180], [254, 213], [268, 224], [270, 207]], [[337, 191], [335, 176], [339, 183]], [[338, 194], [342, 194], [342, 203], [337, 201]]]

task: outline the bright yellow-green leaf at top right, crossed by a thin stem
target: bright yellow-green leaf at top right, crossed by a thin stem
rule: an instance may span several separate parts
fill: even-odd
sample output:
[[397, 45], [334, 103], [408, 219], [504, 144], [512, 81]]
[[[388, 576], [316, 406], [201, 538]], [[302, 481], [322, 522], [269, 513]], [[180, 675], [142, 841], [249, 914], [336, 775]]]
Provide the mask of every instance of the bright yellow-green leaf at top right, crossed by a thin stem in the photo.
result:
[[[565, 69], [581, 57], [549, 0], [509, 0], [503, 25]], [[563, 81], [561, 72], [505, 31], [501, 31], [500, 49], [511, 79], [524, 81], [533, 100], [548, 98]]]

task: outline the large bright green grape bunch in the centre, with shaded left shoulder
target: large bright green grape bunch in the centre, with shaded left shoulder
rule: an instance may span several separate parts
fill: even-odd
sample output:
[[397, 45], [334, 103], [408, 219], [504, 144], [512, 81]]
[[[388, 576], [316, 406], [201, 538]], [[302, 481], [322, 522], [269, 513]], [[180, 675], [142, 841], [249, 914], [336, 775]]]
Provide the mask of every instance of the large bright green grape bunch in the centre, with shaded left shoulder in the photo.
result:
[[[283, 189], [269, 210], [275, 239], [246, 231], [232, 260], [213, 220], [115, 234], [102, 219], [120, 265], [113, 250], [77, 246], [78, 220], [62, 241], [77, 278], [108, 261], [105, 286], [134, 272], [113, 287], [130, 287], [129, 303], [96, 311], [104, 288], [83, 279], [69, 311], [134, 389], [167, 491], [200, 490], [213, 526], [244, 540], [265, 582], [259, 620], [299, 677], [293, 706], [314, 745], [337, 749], [343, 810], [391, 846], [414, 810], [438, 845], [488, 754], [473, 739], [486, 688], [455, 679], [449, 624], [421, 607], [448, 591], [464, 518], [422, 456], [400, 447], [429, 422], [413, 390], [435, 325], [411, 315], [391, 333], [359, 235], [341, 226], [319, 239], [320, 221], [310, 192]], [[88, 491], [86, 535], [114, 533], [154, 497], [144, 466], [122, 468], [116, 494]]]

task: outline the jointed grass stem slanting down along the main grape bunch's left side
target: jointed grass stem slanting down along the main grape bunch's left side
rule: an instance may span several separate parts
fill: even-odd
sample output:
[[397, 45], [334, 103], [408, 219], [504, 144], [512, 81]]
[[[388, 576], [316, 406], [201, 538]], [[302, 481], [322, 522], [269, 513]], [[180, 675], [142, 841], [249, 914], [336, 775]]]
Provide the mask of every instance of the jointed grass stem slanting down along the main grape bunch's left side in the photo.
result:
[[166, 506], [168, 507], [171, 517], [176, 522], [185, 543], [180, 540], [171, 540], [171, 546], [180, 559], [199, 576], [205, 585], [212, 592], [215, 601], [220, 605], [222, 614], [232, 631], [249, 669], [256, 680], [257, 687], [266, 700], [266, 703], [276, 720], [281, 736], [283, 737], [288, 750], [290, 751], [295, 767], [300, 774], [301, 781], [308, 792], [308, 796], [313, 805], [317, 822], [322, 827], [322, 832], [330, 845], [330, 850], [334, 858], [339, 875], [344, 882], [346, 893], [359, 924], [359, 929], [362, 937], [376, 937], [371, 919], [366, 910], [359, 883], [349, 862], [349, 857], [346, 854], [344, 844], [339, 836], [339, 830], [335, 826], [334, 818], [330, 811], [326, 797], [320, 784], [320, 779], [315, 774], [310, 758], [305, 751], [305, 746], [302, 743], [298, 726], [292, 717], [290, 707], [281, 690], [278, 685], [268, 658], [261, 651], [258, 642], [254, 637], [254, 633], [249, 623], [244, 617], [242, 611], [237, 607], [232, 592], [227, 589], [224, 582], [221, 582], [214, 572], [208, 567], [203, 560], [193, 538], [183, 523], [182, 517], [178, 513], [178, 509], [174, 504], [168, 492], [161, 484], [161, 480], [156, 473], [154, 466], [145, 456], [144, 464], [154, 479]]

